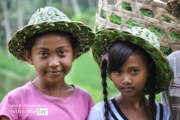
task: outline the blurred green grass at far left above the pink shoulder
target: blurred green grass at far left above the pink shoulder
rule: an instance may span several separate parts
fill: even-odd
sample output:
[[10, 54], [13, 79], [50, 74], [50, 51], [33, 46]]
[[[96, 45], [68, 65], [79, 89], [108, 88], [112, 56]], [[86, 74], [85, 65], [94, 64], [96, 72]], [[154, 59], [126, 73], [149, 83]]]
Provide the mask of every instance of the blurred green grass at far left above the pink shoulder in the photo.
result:
[[0, 101], [6, 93], [24, 85], [34, 75], [33, 66], [0, 52]]

